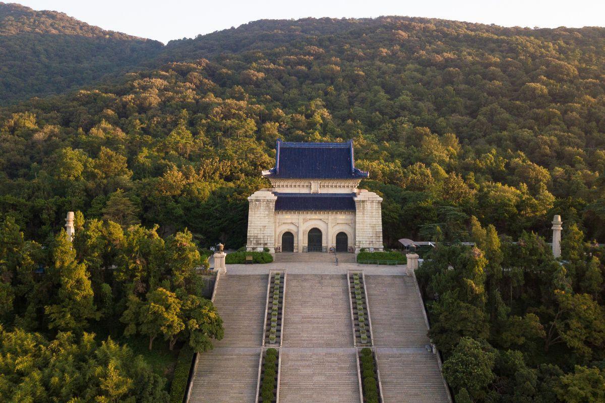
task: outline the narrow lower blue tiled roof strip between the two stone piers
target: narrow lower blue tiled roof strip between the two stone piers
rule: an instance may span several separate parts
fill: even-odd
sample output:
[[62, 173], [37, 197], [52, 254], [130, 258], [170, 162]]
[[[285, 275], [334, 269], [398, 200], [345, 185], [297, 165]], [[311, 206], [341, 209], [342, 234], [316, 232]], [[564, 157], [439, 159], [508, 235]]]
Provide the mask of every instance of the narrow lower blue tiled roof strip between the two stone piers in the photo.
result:
[[275, 210], [355, 211], [355, 193], [273, 193]]

